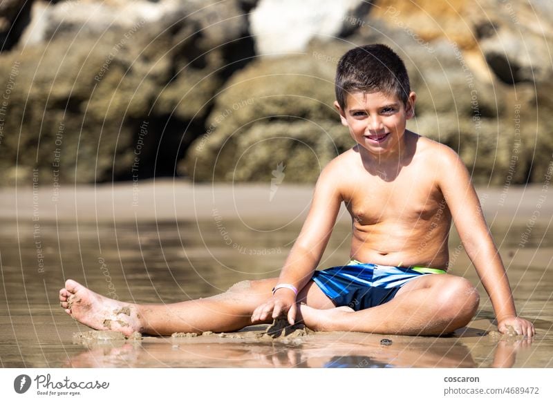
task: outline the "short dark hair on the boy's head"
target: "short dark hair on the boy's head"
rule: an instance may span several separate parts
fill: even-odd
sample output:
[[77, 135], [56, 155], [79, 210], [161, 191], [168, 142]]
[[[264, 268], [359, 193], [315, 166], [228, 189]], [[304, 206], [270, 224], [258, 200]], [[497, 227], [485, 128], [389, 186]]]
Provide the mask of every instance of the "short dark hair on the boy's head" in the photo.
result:
[[403, 60], [386, 45], [373, 44], [348, 50], [338, 61], [336, 100], [346, 106], [348, 93], [383, 92], [396, 95], [406, 105], [411, 93]]

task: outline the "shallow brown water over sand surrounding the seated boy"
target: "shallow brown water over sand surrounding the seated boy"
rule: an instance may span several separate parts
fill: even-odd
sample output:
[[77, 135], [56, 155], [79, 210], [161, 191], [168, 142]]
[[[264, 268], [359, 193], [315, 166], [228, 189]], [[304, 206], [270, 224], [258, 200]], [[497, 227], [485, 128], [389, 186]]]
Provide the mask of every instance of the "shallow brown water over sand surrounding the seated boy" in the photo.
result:
[[[3, 367], [553, 367], [553, 236], [536, 224], [494, 221], [494, 238], [509, 273], [519, 314], [534, 321], [532, 341], [499, 341], [491, 304], [453, 336], [409, 337], [317, 333], [273, 343], [198, 336], [78, 345], [77, 324], [59, 307], [66, 278], [100, 294], [142, 303], [173, 303], [224, 291], [245, 279], [277, 276], [297, 236], [279, 220], [162, 223], [3, 222], [0, 229], [0, 363]], [[274, 222], [274, 223], [271, 223]], [[224, 227], [224, 230], [221, 229]], [[339, 224], [321, 267], [348, 260], [349, 231]], [[458, 239], [452, 271], [478, 283]], [[42, 266], [44, 263], [44, 267]], [[260, 329], [252, 328], [252, 329]], [[391, 345], [381, 343], [390, 339]]]

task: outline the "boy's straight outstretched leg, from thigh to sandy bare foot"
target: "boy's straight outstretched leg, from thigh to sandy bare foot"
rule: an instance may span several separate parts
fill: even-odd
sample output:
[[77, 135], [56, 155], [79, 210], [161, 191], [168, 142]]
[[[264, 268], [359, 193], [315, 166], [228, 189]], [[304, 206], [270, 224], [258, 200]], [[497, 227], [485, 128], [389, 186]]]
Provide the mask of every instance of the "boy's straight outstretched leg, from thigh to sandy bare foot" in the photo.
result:
[[[137, 305], [106, 298], [67, 280], [59, 291], [66, 313], [94, 329], [112, 329], [129, 336], [133, 332], [170, 335], [174, 332], [229, 332], [252, 324], [254, 309], [265, 302], [277, 278], [236, 283], [223, 294], [167, 305]], [[317, 309], [334, 305], [310, 281], [298, 295]]]

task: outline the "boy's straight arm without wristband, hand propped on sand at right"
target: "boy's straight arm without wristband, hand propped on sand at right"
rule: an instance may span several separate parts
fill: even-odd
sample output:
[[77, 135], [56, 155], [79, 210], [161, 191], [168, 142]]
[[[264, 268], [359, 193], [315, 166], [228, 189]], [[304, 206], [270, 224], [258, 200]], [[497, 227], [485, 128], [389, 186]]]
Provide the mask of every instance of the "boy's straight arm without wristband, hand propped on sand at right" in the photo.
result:
[[517, 334], [533, 336], [534, 326], [516, 316], [509, 280], [494, 240], [482, 215], [482, 209], [469, 172], [460, 157], [446, 146], [440, 146], [439, 185], [451, 211], [453, 222], [476, 272], [494, 306], [498, 329], [512, 325]]

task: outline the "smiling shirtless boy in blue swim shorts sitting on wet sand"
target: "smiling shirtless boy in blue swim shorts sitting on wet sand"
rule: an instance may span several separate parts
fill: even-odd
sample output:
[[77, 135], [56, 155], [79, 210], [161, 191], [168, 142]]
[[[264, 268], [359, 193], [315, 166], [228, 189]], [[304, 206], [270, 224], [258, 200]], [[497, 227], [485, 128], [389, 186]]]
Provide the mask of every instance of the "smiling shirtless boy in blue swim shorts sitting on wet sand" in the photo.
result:
[[[134, 305], [73, 280], [59, 291], [68, 314], [95, 329], [169, 335], [229, 332], [285, 314], [312, 329], [430, 335], [467, 325], [479, 296], [446, 274], [451, 220], [496, 312], [500, 332], [534, 335], [516, 316], [503, 262], [469, 173], [447, 146], [406, 131], [415, 93], [403, 61], [384, 45], [340, 59], [335, 107], [357, 145], [321, 172], [310, 211], [279, 278], [171, 305]], [[341, 202], [353, 220], [351, 262], [315, 271]]]

